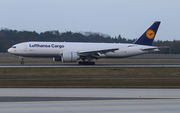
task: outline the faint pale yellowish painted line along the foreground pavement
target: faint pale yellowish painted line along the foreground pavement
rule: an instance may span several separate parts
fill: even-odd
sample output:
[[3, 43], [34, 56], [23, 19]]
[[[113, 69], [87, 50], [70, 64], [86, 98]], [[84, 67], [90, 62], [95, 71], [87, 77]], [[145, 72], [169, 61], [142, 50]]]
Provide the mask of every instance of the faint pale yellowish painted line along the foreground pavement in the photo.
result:
[[95, 106], [95, 107], [46, 107], [46, 108], [7, 108], [7, 109], [0, 109], [0, 111], [3, 110], [38, 110], [38, 109], [44, 109], [44, 110], [48, 110], [48, 109], [90, 109], [90, 108], [126, 108], [126, 107], [137, 107], [137, 108], [141, 108], [141, 107], [178, 107], [180, 105], [144, 105], [144, 106]]

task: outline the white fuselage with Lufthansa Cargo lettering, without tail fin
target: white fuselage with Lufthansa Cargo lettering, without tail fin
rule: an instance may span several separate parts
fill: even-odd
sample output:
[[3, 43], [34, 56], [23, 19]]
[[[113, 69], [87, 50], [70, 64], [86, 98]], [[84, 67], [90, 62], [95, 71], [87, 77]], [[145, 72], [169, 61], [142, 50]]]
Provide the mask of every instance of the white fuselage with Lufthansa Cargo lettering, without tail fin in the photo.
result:
[[23, 57], [60, 57], [62, 52], [71, 51], [87, 51], [105, 48], [118, 48], [114, 52], [99, 54], [99, 58], [123, 58], [148, 52], [159, 51], [153, 49], [151, 51], [143, 51], [144, 49], [154, 48], [154, 46], [145, 46], [137, 44], [122, 43], [75, 43], [75, 42], [24, 42], [9, 48], [8, 52]]

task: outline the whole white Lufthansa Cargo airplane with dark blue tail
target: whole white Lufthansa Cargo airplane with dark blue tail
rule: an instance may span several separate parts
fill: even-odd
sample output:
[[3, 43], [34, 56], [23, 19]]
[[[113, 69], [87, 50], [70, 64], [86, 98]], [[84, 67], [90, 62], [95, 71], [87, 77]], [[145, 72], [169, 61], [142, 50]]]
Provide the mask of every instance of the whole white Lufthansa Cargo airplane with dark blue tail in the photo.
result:
[[79, 65], [95, 65], [93, 59], [125, 58], [159, 51], [152, 46], [160, 21], [155, 21], [133, 44], [84, 43], [84, 42], [38, 42], [30, 41], [13, 45], [8, 52], [23, 57], [51, 57], [53, 61], [77, 62]]

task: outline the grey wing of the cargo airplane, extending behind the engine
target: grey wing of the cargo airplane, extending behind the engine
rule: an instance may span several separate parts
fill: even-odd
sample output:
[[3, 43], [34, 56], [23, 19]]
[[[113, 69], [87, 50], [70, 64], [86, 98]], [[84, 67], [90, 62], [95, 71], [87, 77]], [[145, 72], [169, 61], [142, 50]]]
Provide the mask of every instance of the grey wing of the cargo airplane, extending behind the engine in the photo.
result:
[[81, 51], [78, 51], [78, 54], [80, 54], [80, 55], [91, 55], [91, 54], [95, 55], [95, 54], [98, 54], [98, 53], [105, 54], [105, 53], [108, 53], [108, 52], [114, 52], [116, 50], [119, 50], [119, 48], [81, 50]]

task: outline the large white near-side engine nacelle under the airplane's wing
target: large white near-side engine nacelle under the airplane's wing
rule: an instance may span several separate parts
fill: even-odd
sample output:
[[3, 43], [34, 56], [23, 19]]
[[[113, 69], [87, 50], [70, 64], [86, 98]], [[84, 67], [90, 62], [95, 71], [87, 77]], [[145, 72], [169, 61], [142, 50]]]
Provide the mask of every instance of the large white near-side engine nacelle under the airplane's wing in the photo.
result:
[[79, 55], [76, 52], [66, 51], [61, 55], [62, 62], [76, 62], [79, 59]]

